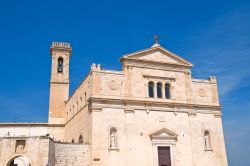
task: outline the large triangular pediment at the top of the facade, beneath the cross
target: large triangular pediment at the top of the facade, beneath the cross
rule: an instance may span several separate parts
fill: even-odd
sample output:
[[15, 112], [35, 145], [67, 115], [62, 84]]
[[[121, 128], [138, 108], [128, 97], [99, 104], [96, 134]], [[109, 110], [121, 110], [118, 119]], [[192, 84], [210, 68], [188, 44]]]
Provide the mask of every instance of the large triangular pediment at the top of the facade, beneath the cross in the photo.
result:
[[161, 47], [160, 45], [125, 55], [121, 58], [121, 61], [123, 60], [154, 62], [154, 63], [171, 64], [171, 65], [179, 65], [186, 67], [193, 66], [192, 63], [168, 51], [167, 49]]

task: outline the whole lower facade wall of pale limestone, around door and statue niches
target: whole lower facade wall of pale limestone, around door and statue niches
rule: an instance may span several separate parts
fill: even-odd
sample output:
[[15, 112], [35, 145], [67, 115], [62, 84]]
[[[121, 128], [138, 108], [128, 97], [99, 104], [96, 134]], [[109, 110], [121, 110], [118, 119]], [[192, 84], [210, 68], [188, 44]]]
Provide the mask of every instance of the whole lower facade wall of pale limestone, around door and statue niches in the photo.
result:
[[[134, 110], [103, 108], [92, 112], [92, 162], [93, 165], [127, 166], [156, 165], [157, 153], [150, 135], [166, 128], [178, 135], [171, 145], [173, 165], [226, 166], [226, 153], [220, 117], [213, 114], [172, 111]], [[109, 130], [117, 128], [118, 149], [110, 150]], [[204, 131], [211, 134], [211, 151], [205, 151]], [[206, 162], [204, 162], [206, 161]]]

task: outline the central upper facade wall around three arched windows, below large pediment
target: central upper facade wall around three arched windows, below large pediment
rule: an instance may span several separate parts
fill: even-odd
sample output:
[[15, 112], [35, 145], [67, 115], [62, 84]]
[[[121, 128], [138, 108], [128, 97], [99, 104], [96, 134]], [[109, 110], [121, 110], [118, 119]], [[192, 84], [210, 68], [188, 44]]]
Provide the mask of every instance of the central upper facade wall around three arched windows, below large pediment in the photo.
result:
[[[156, 84], [157, 82], [162, 83], [162, 100], [166, 100], [164, 97], [164, 85], [169, 83], [171, 85], [171, 99], [178, 102], [186, 102], [186, 85], [184, 72], [174, 72], [167, 70], [157, 70], [148, 68], [133, 67], [130, 73], [126, 77], [130, 77], [130, 91], [131, 96], [148, 98], [148, 82], [153, 81], [155, 84], [154, 96], [156, 96]], [[128, 88], [128, 87], [127, 87]]]

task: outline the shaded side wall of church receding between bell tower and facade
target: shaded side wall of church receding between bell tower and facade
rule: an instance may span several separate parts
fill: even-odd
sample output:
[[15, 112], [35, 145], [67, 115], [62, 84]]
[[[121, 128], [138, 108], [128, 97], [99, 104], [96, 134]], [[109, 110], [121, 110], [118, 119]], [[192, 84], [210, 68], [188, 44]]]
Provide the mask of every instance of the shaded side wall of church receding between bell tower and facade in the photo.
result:
[[90, 137], [90, 116], [88, 110], [88, 98], [92, 91], [92, 77], [88, 75], [81, 85], [76, 89], [68, 100], [65, 108], [65, 141], [78, 142], [80, 135], [83, 142], [89, 143]]

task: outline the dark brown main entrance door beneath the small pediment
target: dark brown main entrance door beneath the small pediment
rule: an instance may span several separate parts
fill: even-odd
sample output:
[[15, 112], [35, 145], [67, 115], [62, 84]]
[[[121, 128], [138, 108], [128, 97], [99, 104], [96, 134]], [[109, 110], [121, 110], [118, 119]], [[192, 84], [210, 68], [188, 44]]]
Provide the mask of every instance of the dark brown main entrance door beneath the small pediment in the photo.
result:
[[171, 156], [169, 146], [158, 146], [159, 166], [171, 166]]

